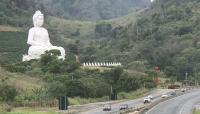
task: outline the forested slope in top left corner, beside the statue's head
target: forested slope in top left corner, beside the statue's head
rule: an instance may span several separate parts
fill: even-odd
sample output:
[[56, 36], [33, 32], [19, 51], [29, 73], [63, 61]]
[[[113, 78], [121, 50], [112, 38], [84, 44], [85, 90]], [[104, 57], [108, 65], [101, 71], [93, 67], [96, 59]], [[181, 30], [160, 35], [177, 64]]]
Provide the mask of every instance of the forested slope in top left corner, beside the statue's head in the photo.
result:
[[27, 1], [20, 0], [1, 0], [0, 2], [0, 24], [12, 25], [16, 27], [28, 26], [31, 22], [27, 16], [30, 16], [30, 10], [25, 8], [32, 8], [30, 3], [26, 5]]

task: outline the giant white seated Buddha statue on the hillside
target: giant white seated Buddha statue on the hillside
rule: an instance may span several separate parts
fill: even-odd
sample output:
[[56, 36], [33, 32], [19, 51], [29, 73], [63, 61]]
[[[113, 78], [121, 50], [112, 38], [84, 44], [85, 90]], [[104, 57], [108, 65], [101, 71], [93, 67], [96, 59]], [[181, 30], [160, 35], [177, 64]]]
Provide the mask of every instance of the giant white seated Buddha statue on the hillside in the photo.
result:
[[63, 47], [53, 46], [50, 43], [48, 31], [42, 27], [44, 23], [44, 15], [40, 11], [36, 11], [33, 15], [33, 24], [28, 33], [27, 44], [30, 45], [28, 55], [23, 55], [23, 61], [29, 61], [31, 59], [39, 59], [41, 54], [44, 54], [48, 50], [59, 50], [61, 56], [59, 59], [65, 59], [65, 49]]

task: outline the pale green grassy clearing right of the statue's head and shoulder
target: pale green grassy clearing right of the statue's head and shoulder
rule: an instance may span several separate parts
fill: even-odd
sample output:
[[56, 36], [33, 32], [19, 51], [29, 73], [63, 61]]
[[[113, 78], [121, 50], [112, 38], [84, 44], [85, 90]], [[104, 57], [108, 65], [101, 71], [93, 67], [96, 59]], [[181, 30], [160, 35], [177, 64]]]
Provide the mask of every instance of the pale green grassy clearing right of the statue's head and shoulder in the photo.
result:
[[[56, 17], [49, 16], [47, 18], [47, 24], [50, 29], [56, 31], [61, 35], [61, 40], [68, 44], [74, 42], [75, 40], [81, 40], [83, 42], [88, 42], [91, 38], [94, 38], [95, 22], [89, 21], [72, 21]], [[72, 36], [79, 29], [80, 35]]]

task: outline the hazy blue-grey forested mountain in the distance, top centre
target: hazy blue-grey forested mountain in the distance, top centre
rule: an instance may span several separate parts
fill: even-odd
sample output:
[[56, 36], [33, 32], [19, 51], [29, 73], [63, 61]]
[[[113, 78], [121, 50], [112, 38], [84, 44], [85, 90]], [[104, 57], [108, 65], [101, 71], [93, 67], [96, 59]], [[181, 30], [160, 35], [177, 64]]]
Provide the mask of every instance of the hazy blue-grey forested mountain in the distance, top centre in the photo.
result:
[[123, 16], [150, 0], [40, 0], [47, 11], [67, 19], [101, 20]]

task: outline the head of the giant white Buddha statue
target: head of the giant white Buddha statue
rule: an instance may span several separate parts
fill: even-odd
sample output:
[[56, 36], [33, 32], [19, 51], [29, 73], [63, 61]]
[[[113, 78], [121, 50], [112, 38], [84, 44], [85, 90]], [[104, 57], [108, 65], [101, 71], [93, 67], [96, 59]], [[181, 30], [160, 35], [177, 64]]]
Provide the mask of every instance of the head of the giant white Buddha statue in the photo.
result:
[[34, 27], [41, 27], [44, 23], [44, 15], [38, 10], [33, 15], [33, 25]]

